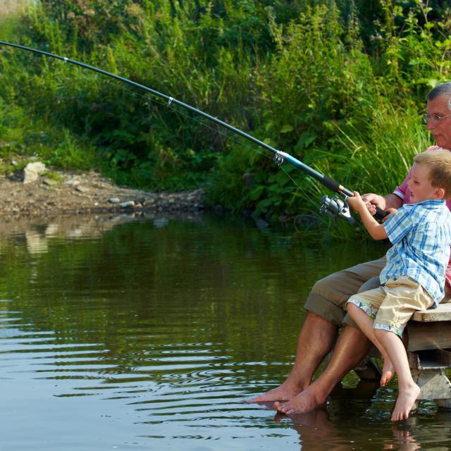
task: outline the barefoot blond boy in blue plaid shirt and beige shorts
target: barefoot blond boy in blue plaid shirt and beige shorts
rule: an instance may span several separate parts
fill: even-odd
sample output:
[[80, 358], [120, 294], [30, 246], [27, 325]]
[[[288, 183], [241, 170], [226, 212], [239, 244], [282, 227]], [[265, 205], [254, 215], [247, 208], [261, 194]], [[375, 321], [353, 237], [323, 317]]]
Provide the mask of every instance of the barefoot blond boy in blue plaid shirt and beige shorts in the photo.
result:
[[402, 330], [414, 311], [436, 307], [444, 296], [451, 245], [451, 213], [445, 204], [451, 198], [451, 152], [440, 149], [416, 155], [409, 189], [411, 204], [390, 211], [383, 224], [371, 216], [358, 192], [347, 198], [370, 235], [393, 244], [380, 276], [383, 286], [347, 302], [352, 319], [381, 352], [381, 386], [397, 373], [392, 421], [409, 418], [420, 393], [410, 373]]

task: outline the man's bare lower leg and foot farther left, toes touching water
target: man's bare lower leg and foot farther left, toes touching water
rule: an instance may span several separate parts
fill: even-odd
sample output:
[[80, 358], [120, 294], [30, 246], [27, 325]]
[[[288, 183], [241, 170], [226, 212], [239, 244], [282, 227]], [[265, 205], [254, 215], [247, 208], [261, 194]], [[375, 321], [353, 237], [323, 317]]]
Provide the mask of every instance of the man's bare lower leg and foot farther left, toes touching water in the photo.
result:
[[337, 335], [338, 326], [309, 311], [297, 340], [295, 364], [286, 381], [247, 402], [288, 401], [302, 392], [332, 349]]

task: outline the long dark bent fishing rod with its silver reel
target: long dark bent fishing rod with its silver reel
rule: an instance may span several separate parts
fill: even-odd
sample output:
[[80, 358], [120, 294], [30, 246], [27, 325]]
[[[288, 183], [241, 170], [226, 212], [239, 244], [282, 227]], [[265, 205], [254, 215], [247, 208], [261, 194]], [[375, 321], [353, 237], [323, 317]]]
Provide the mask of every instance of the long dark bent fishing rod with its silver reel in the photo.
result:
[[[85, 68], [88, 70], [92, 70], [94, 72], [100, 73], [102, 75], [106, 75], [107, 77], [114, 78], [116, 80], [119, 80], [121, 82], [128, 83], [129, 85], [138, 87], [140, 89], [144, 89], [144, 91], [150, 92], [151, 94], [154, 94], [156, 97], [161, 97], [162, 99], [165, 99], [167, 101], [166, 106], [169, 108], [171, 104], [175, 104], [178, 106], [181, 106], [183, 109], [187, 109], [188, 111], [192, 111], [192, 113], [196, 113], [199, 116], [202, 116], [209, 121], [212, 121], [218, 125], [221, 125], [222, 127], [236, 133], [237, 135], [240, 135], [244, 137], [245, 139], [253, 142], [254, 144], [257, 144], [259, 147], [263, 147], [264, 149], [268, 150], [269, 152], [272, 152], [274, 154], [273, 160], [275, 161], [276, 165], [280, 167], [284, 161], [288, 161], [288, 163], [291, 163], [296, 168], [300, 169], [301, 171], [304, 171], [304, 173], [307, 173], [307, 175], [310, 175], [315, 180], [318, 180], [319, 183], [322, 183], [325, 187], [328, 187], [329, 190], [336, 192], [338, 194], [342, 195], [342, 198], [338, 196], [328, 197], [327, 195], [324, 195], [321, 197], [321, 207], [319, 209], [321, 214], [329, 214], [330, 216], [338, 216], [339, 218], [345, 219], [346, 221], [349, 221], [350, 223], [354, 223], [355, 219], [353, 216], [351, 216], [350, 208], [346, 202], [347, 197], [352, 197], [354, 195], [354, 192], [351, 190], [348, 190], [346, 187], [340, 185], [340, 183], [336, 182], [332, 178], [327, 177], [326, 175], [321, 174], [318, 171], [315, 171], [310, 166], [307, 166], [307, 164], [302, 163], [302, 161], [299, 161], [294, 156], [291, 156], [287, 152], [282, 152], [278, 149], [275, 149], [274, 147], [270, 146], [269, 144], [266, 144], [266, 142], [257, 140], [257, 138], [253, 137], [252, 135], [248, 135], [246, 132], [243, 132], [239, 128], [233, 127], [233, 125], [230, 125], [224, 121], [221, 121], [218, 118], [215, 118], [214, 116], [211, 116], [208, 113], [205, 113], [204, 111], [201, 111], [197, 108], [194, 108], [194, 106], [188, 105], [183, 103], [183, 101], [174, 99], [171, 96], [168, 96], [167, 94], [163, 94], [162, 92], [156, 91], [155, 89], [149, 88], [147, 86], [141, 85], [140, 83], [134, 82], [132, 80], [128, 80], [128, 78], [121, 77], [120, 75], [115, 75], [111, 72], [107, 72], [106, 70], [96, 68], [94, 66], [89, 66], [89, 64], [80, 63], [80, 61], [75, 61], [70, 58], [66, 58], [65, 56], [59, 56], [56, 54], [51, 54], [47, 51], [42, 51], [38, 49], [33, 49], [32, 47], [25, 47], [23, 45], [19, 44], [13, 44], [12, 42], [5, 42], [0, 41], [0, 45], [6, 45], [9, 47], [14, 47], [16, 49], [30, 51], [34, 54], [39, 54], [42, 56], [49, 56], [51, 58], [56, 58], [58, 60], [64, 61], [64, 63], [70, 63], [75, 66], [80, 66], [81, 68]], [[380, 209], [378, 206], [376, 206], [376, 214], [374, 215], [378, 219], [382, 219], [387, 215], [385, 211]]]

